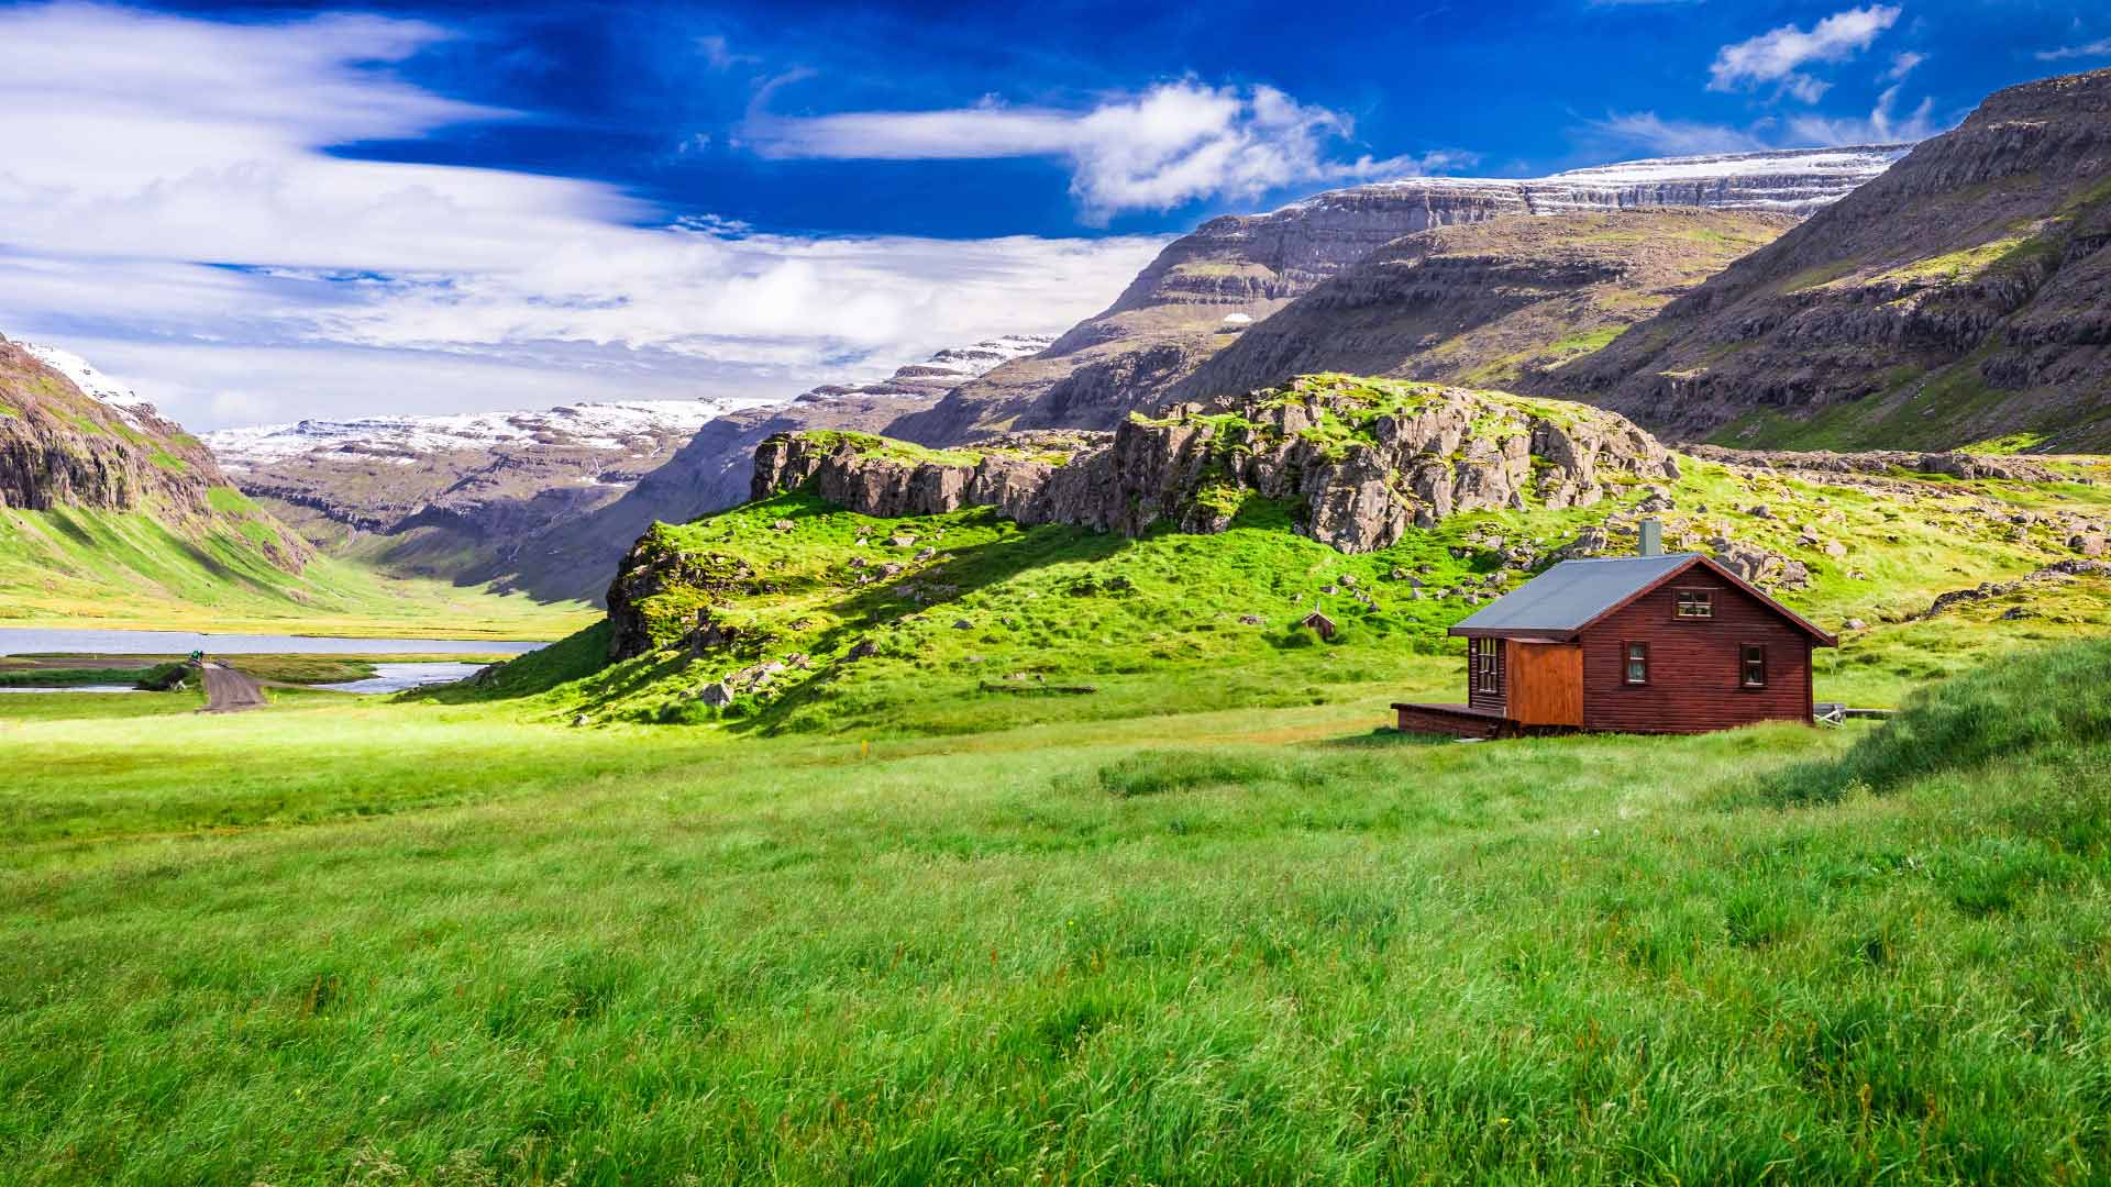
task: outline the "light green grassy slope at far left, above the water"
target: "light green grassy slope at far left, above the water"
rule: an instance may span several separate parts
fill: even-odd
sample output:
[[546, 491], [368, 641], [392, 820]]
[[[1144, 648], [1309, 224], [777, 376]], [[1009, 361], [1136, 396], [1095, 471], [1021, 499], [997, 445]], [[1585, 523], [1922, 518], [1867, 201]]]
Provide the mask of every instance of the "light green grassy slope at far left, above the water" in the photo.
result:
[[251, 541], [222, 530], [194, 541], [148, 515], [0, 511], [0, 625], [557, 638], [591, 617], [327, 558], [296, 577]]

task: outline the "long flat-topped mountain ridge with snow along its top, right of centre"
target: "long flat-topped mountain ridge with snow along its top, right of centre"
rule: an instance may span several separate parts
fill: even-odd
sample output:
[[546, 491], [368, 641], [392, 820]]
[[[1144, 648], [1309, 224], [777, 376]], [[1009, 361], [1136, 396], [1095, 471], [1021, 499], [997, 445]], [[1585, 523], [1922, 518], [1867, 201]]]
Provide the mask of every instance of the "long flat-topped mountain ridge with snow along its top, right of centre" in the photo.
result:
[[1032, 359], [954, 389], [889, 425], [954, 444], [1007, 429], [1112, 429], [1182, 399], [1182, 382], [1237, 340], [1226, 317], [1264, 321], [1404, 234], [1545, 213], [1706, 207], [1801, 215], [1875, 177], [1902, 148], [1687, 158], [1535, 182], [1391, 182], [1279, 211], [1224, 215], [1169, 243], [1098, 317]]

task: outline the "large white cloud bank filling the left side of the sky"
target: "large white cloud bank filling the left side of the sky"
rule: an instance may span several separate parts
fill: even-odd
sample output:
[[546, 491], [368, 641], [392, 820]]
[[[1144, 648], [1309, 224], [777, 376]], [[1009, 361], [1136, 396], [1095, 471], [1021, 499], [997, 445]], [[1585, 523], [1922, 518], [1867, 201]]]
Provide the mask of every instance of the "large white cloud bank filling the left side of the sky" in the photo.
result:
[[[787, 397], [1062, 329], [1161, 245], [667, 226], [610, 186], [329, 156], [511, 118], [384, 70], [441, 36], [382, 17], [0, 8], [0, 332], [97, 357], [201, 429], [555, 389]], [[120, 370], [82, 342], [137, 346]], [[255, 368], [230, 363], [245, 353]]]

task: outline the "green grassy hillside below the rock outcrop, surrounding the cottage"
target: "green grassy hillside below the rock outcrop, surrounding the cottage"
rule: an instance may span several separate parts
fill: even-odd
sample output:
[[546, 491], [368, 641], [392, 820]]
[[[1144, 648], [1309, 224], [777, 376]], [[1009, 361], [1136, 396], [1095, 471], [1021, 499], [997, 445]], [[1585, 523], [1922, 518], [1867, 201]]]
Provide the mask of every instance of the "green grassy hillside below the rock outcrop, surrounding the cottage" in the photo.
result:
[[[1866, 619], [1820, 657], [1820, 697], [1887, 705], [1929, 676], [1976, 663], [1986, 651], [2105, 634], [2111, 589], [2100, 579], [2052, 583], [1929, 623], [1900, 623], [1942, 591], [2020, 577], [2073, 555], [2065, 534], [2035, 526], [2016, 539], [2010, 511], [2111, 513], [2098, 484], [1953, 482], [1900, 475], [1900, 490], [1820, 486], [1775, 475], [1742, 475], [1687, 463], [1672, 486], [1676, 509], [1663, 515], [1676, 545], [1706, 547], [1718, 532], [1811, 566], [1815, 579], [1788, 602], [1837, 627]], [[2094, 467], [2100, 477], [2105, 467]], [[2077, 475], [2079, 477], [2079, 475]], [[692, 657], [678, 646], [707, 604], [699, 583], [678, 585], [646, 613], [667, 651], [555, 689], [532, 708], [549, 718], [714, 720], [695, 699], [726, 672], [785, 655], [809, 655], [811, 672], [792, 670], [758, 697], [730, 710], [743, 733], [857, 731], [923, 735], [986, 731], [1045, 720], [1123, 718], [1165, 705], [1296, 705], [1343, 689], [1393, 689], [1412, 697], [1457, 699], [1450, 676], [1459, 642], [1444, 627], [1469, 613], [1465, 600], [1410, 596], [1395, 568], [1419, 572], [1429, 594], [1497, 568], [1484, 543], [1575, 536], [1644, 498], [1628, 486], [1615, 501], [1573, 511], [1459, 515], [1429, 532], [1410, 532], [1391, 549], [1343, 555], [1288, 530], [1283, 511], [1248, 503], [1233, 530], [1218, 536], [1150, 534], [1140, 541], [1077, 528], [1022, 530], [990, 509], [916, 520], [870, 520], [790, 494], [657, 528], [673, 555], [703, 558], [720, 581], [709, 613], [747, 640], [733, 651]], [[1771, 517], [1744, 509], [1767, 505]], [[1986, 509], [2003, 517], [1989, 515]], [[775, 530], [790, 522], [792, 530]], [[1830, 558], [1799, 541], [1809, 526], [1822, 541], [1847, 545]], [[870, 530], [870, 543], [859, 532]], [[893, 545], [895, 534], [914, 543]], [[937, 555], [914, 560], [925, 547]], [[1632, 532], [1615, 536], [1632, 547]], [[1454, 551], [1463, 555], [1452, 555]], [[709, 560], [718, 558], [718, 560]], [[853, 568], [866, 558], [866, 568]], [[857, 585], [861, 572], [901, 564], [891, 579]], [[741, 566], [749, 577], [737, 577]], [[1368, 608], [1338, 585], [1370, 591]], [[1334, 585], [1334, 594], [1328, 594]], [[904, 596], [923, 591], [925, 602]], [[1294, 623], [1313, 608], [1340, 623], [1332, 644], [1317, 644]], [[2010, 608], [2029, 621], [1999, 621]], [[1243, 615], [1262, 619], [1248, 625]], [[961, 625], [965, 623], [965, 627]], [[878, 655], [842, 657], [872, 640]], [[1091, 695], [1041, 695], [1043, 684], [1091, 686]], [[517, 695], [509, 689], [507, 695]]]

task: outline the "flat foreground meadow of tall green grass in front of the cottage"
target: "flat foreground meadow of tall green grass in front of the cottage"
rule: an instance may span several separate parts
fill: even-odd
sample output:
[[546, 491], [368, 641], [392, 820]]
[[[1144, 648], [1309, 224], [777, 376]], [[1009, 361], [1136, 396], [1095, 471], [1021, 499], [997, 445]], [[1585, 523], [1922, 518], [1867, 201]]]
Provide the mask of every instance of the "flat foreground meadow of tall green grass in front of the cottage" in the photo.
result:
[[59, 705], [0, 720], [40, 771], [0, 790], [0, 1155], [25, 1185], [2100, 1181], [2111, 750], [2100, 705], [2033, 718], [2107, 678], [2065, 648], [1885, 733], [1385, 743], [1364, 697], [870, 758]]

